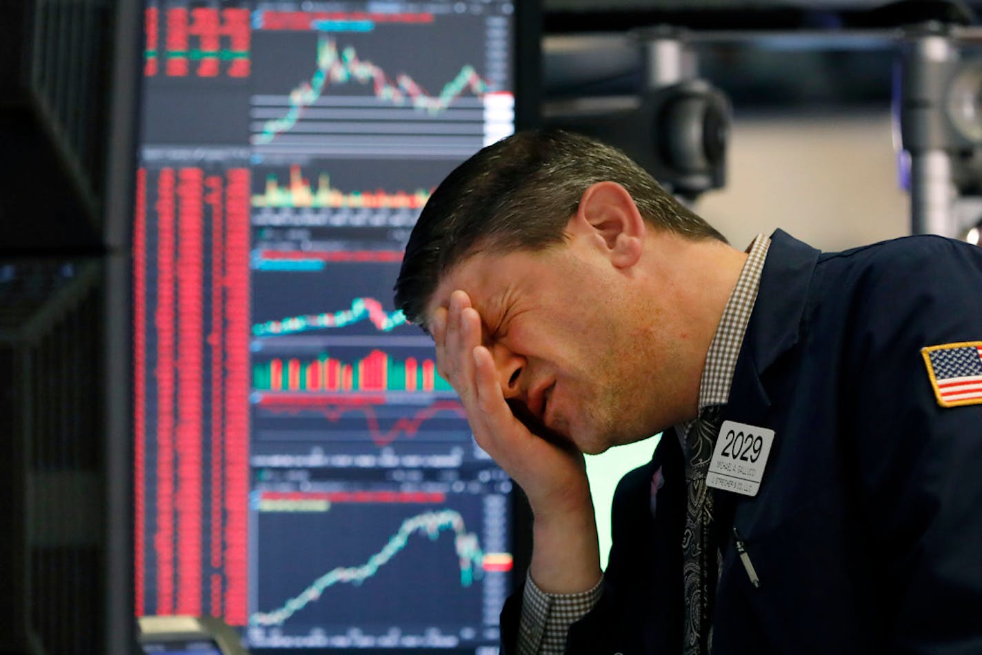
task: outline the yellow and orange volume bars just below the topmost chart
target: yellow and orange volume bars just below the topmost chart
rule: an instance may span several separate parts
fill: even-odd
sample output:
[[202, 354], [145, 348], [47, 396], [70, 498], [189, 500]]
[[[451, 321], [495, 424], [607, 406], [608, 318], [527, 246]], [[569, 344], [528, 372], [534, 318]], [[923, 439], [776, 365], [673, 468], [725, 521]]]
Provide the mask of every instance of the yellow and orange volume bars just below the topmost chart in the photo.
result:
[[342, 209], [368, 207], [372, 209], [421, 209], [429, 199], [430, 191], [352, 191], [345, 193], [331, 187], [331, 178], [321, 173], [316, 189], [300, 174], [300, 166], [290, 167], [290, 185], [280, 187], [275, 175], [266, 178], [266, 190], [252, 196], [253, 207], [316, 207]]

